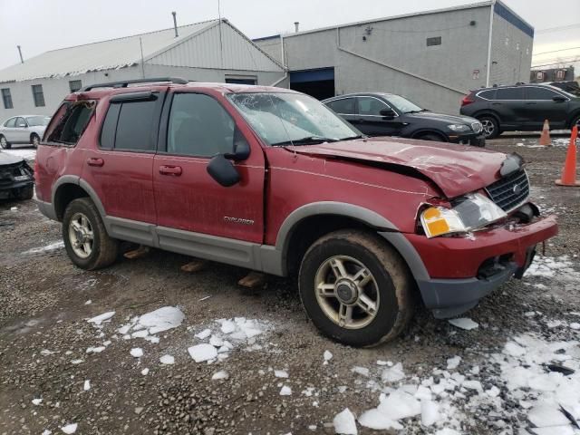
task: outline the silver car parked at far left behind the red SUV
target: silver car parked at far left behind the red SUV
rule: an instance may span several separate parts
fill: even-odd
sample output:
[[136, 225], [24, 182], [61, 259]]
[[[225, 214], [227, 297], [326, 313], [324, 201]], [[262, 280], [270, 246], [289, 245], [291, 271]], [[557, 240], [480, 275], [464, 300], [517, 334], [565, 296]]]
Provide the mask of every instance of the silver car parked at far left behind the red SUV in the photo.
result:
[[7, 150], [16, 143], [31, 143], [36, 148], [48, 121], [50, 116], [44, 115], [21, 115], [6, 120], [0, 125], [0, 147]]

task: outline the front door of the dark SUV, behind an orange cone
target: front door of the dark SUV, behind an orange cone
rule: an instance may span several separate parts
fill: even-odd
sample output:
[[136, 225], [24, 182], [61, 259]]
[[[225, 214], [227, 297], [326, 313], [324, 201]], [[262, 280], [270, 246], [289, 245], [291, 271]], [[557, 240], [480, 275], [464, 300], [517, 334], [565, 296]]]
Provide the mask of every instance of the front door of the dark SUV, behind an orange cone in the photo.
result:
[[[565, 128], [569, 100], [567, 97], [540, 86], [527, 86], [526, 115], [531, 128], [541, 130], [545, 120], [552, 128]], [[560, 97], [559, 101], [554, 98]]]

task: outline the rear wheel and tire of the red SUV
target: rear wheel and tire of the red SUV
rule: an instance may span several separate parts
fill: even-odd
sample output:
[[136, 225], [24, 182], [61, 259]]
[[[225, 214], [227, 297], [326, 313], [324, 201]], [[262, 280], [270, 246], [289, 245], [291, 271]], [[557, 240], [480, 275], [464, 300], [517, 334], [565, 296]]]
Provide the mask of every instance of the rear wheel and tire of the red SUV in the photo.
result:
[[90, 198], [74, 199], [64, 211], [63, 240], [73, 263], [85, 270], [110, 266], [119, 254], [119, 241], [109, 237]]

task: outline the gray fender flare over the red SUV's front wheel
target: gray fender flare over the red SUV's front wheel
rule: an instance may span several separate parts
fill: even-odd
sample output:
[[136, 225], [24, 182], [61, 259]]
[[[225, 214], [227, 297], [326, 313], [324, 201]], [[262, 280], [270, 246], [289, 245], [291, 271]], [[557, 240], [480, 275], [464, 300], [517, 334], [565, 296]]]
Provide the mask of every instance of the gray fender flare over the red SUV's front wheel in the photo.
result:
[[411, 242], [401, 234], [399, 228], [395, 227], [389, 219], [382, 217], [368, 208], [333, 201], [306, 204], [295, 209], [295, 211], [285, 218], [275, 240], [275, 250], [281, 254], [280, 260], [282, 262], [282, 275], [287, 275], [288, 273], [287, 251], [289, 240], [292, 237], [295, 227], [304, 218], [317, 215], [336, 215], [353, 218], [376, 229], [380, 236], [384, 237], [395, 249], [397, 249], [399, 254], [407, 263], [407, 266], [411, 269], [411, 273], [415, 280], [429, 279], [427, 269], [425, 268], [417, 250], [411, 245]]

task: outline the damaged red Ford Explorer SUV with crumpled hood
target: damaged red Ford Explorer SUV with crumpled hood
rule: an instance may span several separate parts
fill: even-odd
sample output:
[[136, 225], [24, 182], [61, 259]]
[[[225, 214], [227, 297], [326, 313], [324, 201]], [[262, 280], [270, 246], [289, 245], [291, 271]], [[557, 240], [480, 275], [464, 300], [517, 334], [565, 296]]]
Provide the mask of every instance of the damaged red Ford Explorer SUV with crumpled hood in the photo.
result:
[[368, 346], [469, 310], [556, 235], [517, 154], [367, 139], [299, 92], [180, 79], [69, 95], [36, 160], [39, 208], [73, 263], [120, 240], [298, 275], [326, 335]]

